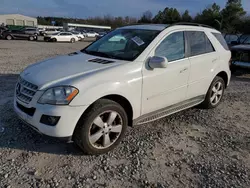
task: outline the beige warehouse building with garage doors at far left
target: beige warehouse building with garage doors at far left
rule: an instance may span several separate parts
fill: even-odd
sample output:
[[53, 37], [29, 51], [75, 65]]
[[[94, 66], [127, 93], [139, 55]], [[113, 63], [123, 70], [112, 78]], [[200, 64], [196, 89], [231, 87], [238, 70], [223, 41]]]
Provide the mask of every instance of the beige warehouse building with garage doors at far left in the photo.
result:
[[0, 15], [0, 25], [37, 26], [37, 19], [21, 14]]

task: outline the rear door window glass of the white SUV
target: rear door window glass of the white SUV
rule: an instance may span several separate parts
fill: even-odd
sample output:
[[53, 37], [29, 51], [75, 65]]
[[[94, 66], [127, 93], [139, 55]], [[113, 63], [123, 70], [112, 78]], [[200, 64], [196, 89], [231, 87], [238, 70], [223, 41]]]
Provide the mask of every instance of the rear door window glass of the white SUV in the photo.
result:
[[202, 31], [187, 31], [190, 43], [190, 56], [210, 53], [215, 51], [210, 40]]

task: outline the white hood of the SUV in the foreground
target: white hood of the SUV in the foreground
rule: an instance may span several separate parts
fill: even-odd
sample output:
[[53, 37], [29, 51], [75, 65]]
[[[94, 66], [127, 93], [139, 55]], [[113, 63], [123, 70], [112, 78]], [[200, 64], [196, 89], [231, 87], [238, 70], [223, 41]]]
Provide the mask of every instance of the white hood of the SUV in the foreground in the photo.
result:
[[[104, 64], [103, 61], [109, 62]], [[117, 66], [121, 62], [77, 52], [30, 65], [21, 73], [21, 77], [41, 89], [41, 87]]]

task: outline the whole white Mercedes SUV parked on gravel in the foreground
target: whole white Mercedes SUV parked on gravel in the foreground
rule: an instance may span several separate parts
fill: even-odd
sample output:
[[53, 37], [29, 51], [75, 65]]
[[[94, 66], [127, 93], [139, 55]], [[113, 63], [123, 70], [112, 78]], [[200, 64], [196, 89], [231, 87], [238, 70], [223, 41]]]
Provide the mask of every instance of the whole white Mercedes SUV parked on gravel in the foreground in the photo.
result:
[[216, 107], [230, 58], [221, 33], [203, 25], [126, 26], [27, 67], [14, 108], [38, 132], [72, 137], [85, 153], [101, 154], [119, 144], [127, 126]]

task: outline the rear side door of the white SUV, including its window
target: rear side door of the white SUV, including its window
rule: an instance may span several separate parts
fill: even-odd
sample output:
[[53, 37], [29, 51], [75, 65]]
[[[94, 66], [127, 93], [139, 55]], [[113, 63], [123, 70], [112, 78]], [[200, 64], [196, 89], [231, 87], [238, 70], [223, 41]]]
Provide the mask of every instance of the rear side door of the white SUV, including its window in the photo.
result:
[[187, 99], [205, 95], [211, 84], [213, 68], [219, 54], [205, 31], [186, 31], [188, 56], [191, 63]]

